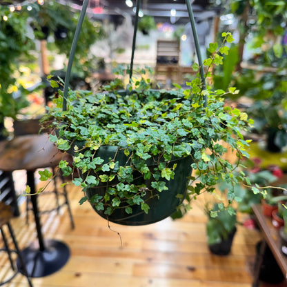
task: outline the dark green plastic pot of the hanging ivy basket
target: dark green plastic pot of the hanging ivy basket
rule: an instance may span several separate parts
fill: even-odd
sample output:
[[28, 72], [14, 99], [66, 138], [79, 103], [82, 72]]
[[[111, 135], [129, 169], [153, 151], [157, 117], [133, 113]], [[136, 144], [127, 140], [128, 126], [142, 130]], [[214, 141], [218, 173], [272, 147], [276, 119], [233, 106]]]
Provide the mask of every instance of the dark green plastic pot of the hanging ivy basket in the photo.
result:
[[[97, 157], [101, 157], [106, 159], [106, 162], [109, 161], [109, 158], [115, 157], [115, 152], [117, 152], [116, 161], [119, 161], [120, 165], [124, 165], [127, 161], [126, 155], [124, 155], [123, 150], [118, 150], [117, 146], [101, 146], [99, 151], [97, 152]], [[177, 164], [177, 168], [175, 168], [175, 177], [174, 179], [170, 179], [170, 181], [166, 181], [166, 186], [168, 190], [164, 190], [162, 192], [158, 192], [158, 197], [153, 197], [152, 199], [148, 199], [150, 197], [150, 192], [146, 194], [146, 203], [150, 206], [150, 210], [148, 210], [148, 214], [146, 214], [143, 210], [141, 210], [141, 206], [131, 206], [132, 214], [127, 214], [125, 208], [118, 208], [112, 212], [112, 215], [105, 215], [103, 210], [97, 210], [95, 206], [90, 202], [90, 199], [95, 195], [104, 196], [107, 188], [116, 186], [119, 181], [114, 179], [113, 181], [107, 183], [101, 183], [101, 185], [95, 188], [85, 188], [86, 197], [90, 202], [92, 208], [101, 215], [101, 217], [115, 222], [117, 224], [128, 225], [128, 226], [141, 226], [146, 224], [154, 224], [155, 222], [161, 221], [166, 217], [172, 215], [175, 212], [177, 206], [181, 204], [182, 199], [177, 198], [177, 195], [183, 195], [182, 198], [186, 195], [186, 187], [188, 185], [188, 178], [191, 175], [192, 169], [190, 165], [192, 164], [191, 157], [184, 158], [172, 158], [170, 161], [170, 166], [173, 164]], [[156, 162], [154, 159], [148, 159], [146, 164], [152, 170], [152, 168], [156, 167]], [[84, 177], [84, 175], [81, 175]], [[143, 179], [143, 175], [139, 172], [135, 172], [134, 174], [135, 184], [145, 184], [147, 187], [150, 187], [152, 179]], [[155, 194], [153, 194], [155, 195]], [[144, 198], [143, 198], [144, 199]]]

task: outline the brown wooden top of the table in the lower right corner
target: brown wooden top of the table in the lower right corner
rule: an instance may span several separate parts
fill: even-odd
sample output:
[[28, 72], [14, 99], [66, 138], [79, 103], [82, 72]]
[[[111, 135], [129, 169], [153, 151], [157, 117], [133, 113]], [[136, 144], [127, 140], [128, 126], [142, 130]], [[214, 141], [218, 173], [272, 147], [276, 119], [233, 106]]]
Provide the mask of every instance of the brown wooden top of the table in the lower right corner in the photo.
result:
[[287, 278], [287, 257], [281, 253], [281, 239], [279, 230], [273, 226], [270, 217], [263, 215], [261, 204], [253, 206], [253, 211], [257, 217], [257, 221], [261, 232], [264, 235], [264, 239], [272, 251], [277, 264], [280, 266], [282, 273], [284, 274], [285, 278]]

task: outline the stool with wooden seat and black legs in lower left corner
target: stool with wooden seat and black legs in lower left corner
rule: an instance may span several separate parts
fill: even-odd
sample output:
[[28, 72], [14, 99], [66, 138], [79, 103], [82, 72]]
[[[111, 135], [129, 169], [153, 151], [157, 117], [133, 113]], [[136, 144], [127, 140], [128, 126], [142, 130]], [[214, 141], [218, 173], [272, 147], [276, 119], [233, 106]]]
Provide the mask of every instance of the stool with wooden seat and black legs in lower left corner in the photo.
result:
[[[19, 273], [19, 270], [17, 269], [16, 264], [14, 264], [14, 262], [12, 260], [12, 253], [16, 253], [18, 256], [18, 259], [20, 261], [20, 264], [21, 264], [21, 272], [26, 276], [29, 286], [33, 287], [32, 282], [30, 280], [30, 277], [28, 276], [28, 273], [27, 273], [27, 270], [26, 270], [26, 267], [25, 267], [25, 264], [23, 261], [23, 257], [21, 256], [21, 251], [19, 250], [17, 240], [14, 236], [12, 226], [10, 225], [10, 219], [12, 219], [12, 217], [13, 217], [13, 214], [12, 214], [11, 207], [7, 206], [6, 204], [4, 204], [3, 202], [0, 201], [0, 230], [1, 230], [1, 235], [2, 235], [3, 243], [4, 243], [4, 248], [1, 248], [0, 251], [5, 251], [7, 253], [11, 268], [12, 268], [12, 270], [14, 270], [14, 274], [12, 276], [10, 276], [8, 279], [1, 281], [0, 286], [2, 286], [4, 284], [8, 283], [9, 281], [11, 281], [12, 279], [14, 279], [14, 277], [17, 275], [17, 273]], [[9, 247], [6, 233], [3, 230], [4, 226], [7, 226], [7, 228], [8, 228], [8, 231], [10, 234], [9, 236], [11, 237], [12, 242], [14, 244], [14, 249], [11, 249]]]

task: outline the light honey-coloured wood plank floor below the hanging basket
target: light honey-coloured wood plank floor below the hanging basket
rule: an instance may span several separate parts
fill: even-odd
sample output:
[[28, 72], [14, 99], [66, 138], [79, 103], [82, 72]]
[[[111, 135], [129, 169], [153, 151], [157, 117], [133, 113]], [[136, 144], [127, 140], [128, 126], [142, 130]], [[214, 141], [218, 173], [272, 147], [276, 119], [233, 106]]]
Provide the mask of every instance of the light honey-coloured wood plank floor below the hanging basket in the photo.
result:
[[[237, 228], [230, 255], [211, 255], [206, 244], [203, 210], [195, 204], [184, 219], [165, 219], [142, 227], [110, 224], [101, 219], [89, 204], [79, 206], [82, 192], [69, 187], [69, 198], [75, 219], [71, 230], [66, 208], [61, 215], [52, 212], [41, 217], [46, 239], [59, 239], [70, 247], [68, 264], [59, 272], [33, 278], [35, 287], [250, 287], [252, 264], [259, 231]], [[200, 203], [200, 202], [199, 202]], [[52, 205], [52, 199], [41, 196], [41, 208]], [[22, 208], [24, 207], [21, 206]], [[244, 220], [246, 215], [239, 217]], [[36, 240], [31, 214], [25, 224], [25, 212], [12, 220], [20, 248]], [[1, 244], [1, 241], [0, 241]], [[0, 253], [0, 281], [8, 273], [8, 261]], [[2, 276], [2, 277], [1, 277]], [[28, 286], [26, 278], [17, 275], [8, 287]], [[265, 285], [264, 285], [265, 286]]]

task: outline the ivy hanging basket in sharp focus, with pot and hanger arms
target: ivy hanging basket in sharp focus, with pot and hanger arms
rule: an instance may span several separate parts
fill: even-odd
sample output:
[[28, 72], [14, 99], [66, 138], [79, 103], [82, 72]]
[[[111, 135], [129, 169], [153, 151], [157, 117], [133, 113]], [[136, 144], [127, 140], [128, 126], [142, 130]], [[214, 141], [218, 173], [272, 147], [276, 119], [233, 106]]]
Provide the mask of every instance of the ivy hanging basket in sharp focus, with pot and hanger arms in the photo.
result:
[[[87, 5], [84, 1], [70, 60]], [[190, 3], [188, 10], [192, 13]], [[43, 117], [52, 128], [50, 140], [73, 156], [72, 167], [63, 160], [59, 168], [63, 175], [79, 170], [72, 183], [84, 192], [81, 204], [88, 200], [102, 217], [126, 225], [152, 224], [174, 212], [178, 216], [197, 195], [214, 193], [219, 179], [234, 184], [243, 179], [233, 175], [224, 155], [230, 148], [238, 160], [248, 156], [241, 132], [250, 125], [246, 114], [224, 106], [223, 90], [205, 85], [202, 65], [187, 89], [152, 89], [146, 69], [132, 75], [136, 32], [137, 18], [130, 68], [117, 72], [130, 77], [125, 90], [117, 88], [119, 79], [99, 93], [68, 90], [70, 61], [63, 92]], [[232, 36], [223, 37], [221, 47], [210, 46], [212, 57], [204, 61], [208, 68], [221, 63], [219, 52], [228, 52], [224, 44]], [[41, 172], [43, 180], [50, 176]], [[230, 188], [228, 199], [234, 197]]]

